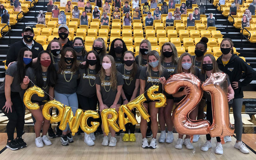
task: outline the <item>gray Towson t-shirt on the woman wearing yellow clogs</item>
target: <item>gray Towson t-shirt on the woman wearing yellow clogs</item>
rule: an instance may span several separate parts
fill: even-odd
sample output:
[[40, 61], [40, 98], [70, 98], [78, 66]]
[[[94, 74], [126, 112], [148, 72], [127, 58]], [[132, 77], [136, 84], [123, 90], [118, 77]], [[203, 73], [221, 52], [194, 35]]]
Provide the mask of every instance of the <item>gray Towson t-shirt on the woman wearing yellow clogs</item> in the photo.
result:
[[124, 90], [124, 93], [132, 95], [133, 91], [135, 89], [136, 79], [139, 79], [139, 77], [140, 77], [141, 68], [139, 66], [137, 66], [136, 75], [132, 80], [130, 80], [130, 77], [131, 77], [133, 69], [132, 70], [126, 70], [125, 69], [125, 73], [124, 73], [124, 64], [122, 64], [121, 66], [118, 66], [116, 69], [123, 76], [123, 80], [124, 80], [123, 90]]

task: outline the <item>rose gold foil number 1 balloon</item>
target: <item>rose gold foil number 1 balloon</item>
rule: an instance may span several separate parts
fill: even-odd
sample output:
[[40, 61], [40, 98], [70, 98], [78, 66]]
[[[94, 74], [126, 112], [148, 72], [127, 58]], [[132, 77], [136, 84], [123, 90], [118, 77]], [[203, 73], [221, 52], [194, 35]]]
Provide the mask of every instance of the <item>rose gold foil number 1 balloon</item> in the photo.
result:
[[216, 72], [202, 84], [204, 91], [210, 92], [212, 103], [211, 137], [233, 135], [234, 126], [229, 121], [228, 81], [226, 73]]

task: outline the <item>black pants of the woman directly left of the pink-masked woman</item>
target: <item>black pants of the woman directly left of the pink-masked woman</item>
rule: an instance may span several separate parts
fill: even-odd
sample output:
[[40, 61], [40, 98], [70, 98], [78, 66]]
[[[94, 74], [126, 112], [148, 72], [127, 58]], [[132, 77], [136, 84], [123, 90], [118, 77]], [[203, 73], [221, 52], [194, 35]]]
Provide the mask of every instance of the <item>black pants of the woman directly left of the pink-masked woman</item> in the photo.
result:
[[[81, 94], [77, 94], [78, 104], [81, 106], [82, 110], [96, 110], [98, 98], [95, 94], [93, 97], [84, 97]], [[87, 120], [88, 126], [91, 126], [91, 122], [93, 121], [92, 117], [89, 117]], [[94, 120], [95, 121], [95, 120]]]

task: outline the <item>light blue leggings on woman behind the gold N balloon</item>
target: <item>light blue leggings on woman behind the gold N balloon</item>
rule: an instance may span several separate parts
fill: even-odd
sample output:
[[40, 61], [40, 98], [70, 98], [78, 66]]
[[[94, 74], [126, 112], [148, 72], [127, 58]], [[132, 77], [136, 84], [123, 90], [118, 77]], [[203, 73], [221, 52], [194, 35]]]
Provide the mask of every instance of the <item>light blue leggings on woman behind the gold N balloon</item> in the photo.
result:
[[[72, 112], [75, 115], [76, 111], [78, 109], [78, 100], [77, 100], [77, 93], [73, 94], [63, 94], [63, 93], [58, 93], [57, 91], [54, 91], [54, 96], [55, 99], [67, 106], [71, 106]], [[64, 132], [70, 131], [69, 124], [67, 124], [67, 127]]]

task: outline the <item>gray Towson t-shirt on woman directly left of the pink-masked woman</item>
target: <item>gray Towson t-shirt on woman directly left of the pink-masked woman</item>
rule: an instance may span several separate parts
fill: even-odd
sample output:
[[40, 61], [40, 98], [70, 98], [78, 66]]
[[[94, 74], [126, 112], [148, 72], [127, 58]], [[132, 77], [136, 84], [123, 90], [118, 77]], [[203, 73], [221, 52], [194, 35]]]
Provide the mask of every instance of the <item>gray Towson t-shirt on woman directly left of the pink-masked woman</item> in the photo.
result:
[[95, 74], [96, 69], [78, 69], [80, 77], [80, 83], [77, 87], [77, 94], [81, 94], [84, 97], [93, 97], [96, 94]]

